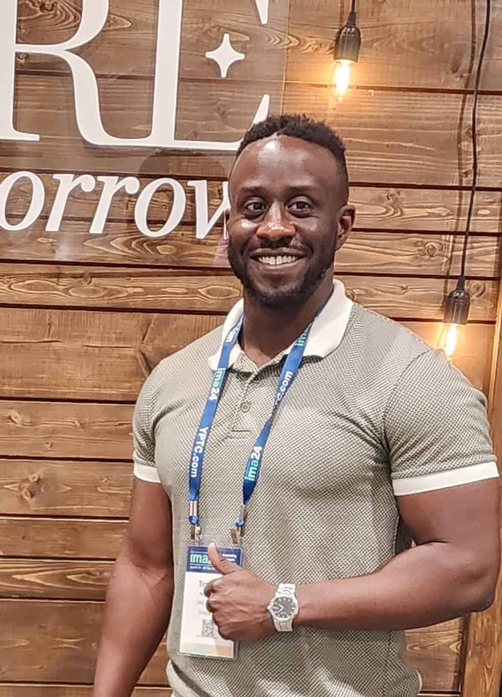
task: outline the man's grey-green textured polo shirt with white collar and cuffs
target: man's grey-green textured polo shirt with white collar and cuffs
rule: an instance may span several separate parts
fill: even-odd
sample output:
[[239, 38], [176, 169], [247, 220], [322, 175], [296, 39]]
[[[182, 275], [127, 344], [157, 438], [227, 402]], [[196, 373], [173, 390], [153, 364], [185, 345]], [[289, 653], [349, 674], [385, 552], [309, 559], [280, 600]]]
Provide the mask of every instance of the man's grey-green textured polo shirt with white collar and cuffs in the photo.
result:
[[[298, 627], [242, 643], [236, 661], [178, 653], [189, 541], [188, 469], [222, 338], [218, 328], [155, 367], [134, 416], [135, 475], [172, 502], [175, 590], [167, 649], [180, 697], [414, 697], [402, 631]], [[200, 491], [204, 542], [229, 543], [245, 464], [270, 415], [284, 354], [231, 353]], [[314, 322], [248, 505], [245, 566], [270, 583], [371, 574], [406, 549], [396, 496], [498, 476], [485, 397], [404, 326], [351, 302], [340, 282]]]

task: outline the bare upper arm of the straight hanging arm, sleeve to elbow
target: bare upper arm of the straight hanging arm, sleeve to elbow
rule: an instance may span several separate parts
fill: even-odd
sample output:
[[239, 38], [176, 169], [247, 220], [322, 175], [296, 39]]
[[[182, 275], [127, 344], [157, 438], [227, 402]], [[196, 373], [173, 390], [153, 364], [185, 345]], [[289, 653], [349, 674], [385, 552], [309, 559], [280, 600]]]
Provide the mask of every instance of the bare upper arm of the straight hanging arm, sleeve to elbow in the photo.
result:
[[133, 477], [124, 550], [138, 565], [172, 566], [171, 501], [162, 484]]

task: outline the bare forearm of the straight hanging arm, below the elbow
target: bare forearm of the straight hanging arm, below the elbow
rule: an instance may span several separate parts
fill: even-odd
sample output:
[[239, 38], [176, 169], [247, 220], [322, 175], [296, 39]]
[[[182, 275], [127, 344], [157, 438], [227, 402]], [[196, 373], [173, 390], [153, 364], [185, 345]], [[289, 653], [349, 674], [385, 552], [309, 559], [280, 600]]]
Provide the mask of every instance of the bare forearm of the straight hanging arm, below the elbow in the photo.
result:
[[107, 590], [93, 697], [129, 697], [165, 634], [171, 615], [172, 568], [146, 569], [126, 553]]

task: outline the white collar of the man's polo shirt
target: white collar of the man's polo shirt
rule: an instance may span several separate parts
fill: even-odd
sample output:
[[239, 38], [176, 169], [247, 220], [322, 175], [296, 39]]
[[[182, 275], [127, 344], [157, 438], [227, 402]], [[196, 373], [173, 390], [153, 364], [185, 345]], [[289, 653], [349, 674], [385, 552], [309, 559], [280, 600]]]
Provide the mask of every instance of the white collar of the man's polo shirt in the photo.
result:
[[[352, 307], [352, 300], [349, 300], [345, 295], [344, 284], [335, 279], [333, 282], [333, 295], [328, 302], [326, 302], [326, 306], [323, 308], [321, 314], [314, 320], [303, 355], [317, 355], [319, 358], [325, 358], [332, 351], [335, 351], [335, 348], [342, 342]], [[236, 302], [236, 305], [232, 307], [229, 314], [227, 314], [227, 319], [225, 319], [225, 324], [222, 328], [221, 344], [225, 341], [231, 328], [238, 323], [243, 314], [243, 309], [244, 300], [239, 300]], [[218, 351], [208, 358], [208, 365], [211, 370], [216, 370], [218, 368], [221, 344]], [[292, 346], [293, 344], [291, 344], [284, 353], [289, 353]], [[241, 351], [242, 348], [237, 342], [231, 350], [229, 366], [234, 365]]]

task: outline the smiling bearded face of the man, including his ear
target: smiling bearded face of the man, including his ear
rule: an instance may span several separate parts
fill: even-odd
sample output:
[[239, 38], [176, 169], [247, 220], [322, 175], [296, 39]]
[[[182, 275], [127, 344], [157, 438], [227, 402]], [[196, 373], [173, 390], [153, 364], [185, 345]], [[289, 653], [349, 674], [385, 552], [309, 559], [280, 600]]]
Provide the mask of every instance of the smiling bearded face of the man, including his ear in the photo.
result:
[[349, 236], [342, 173], [332, 153], [290, 136], [250, 144], [230, 177], [231, 268], [264, 307], [299, 304], [333, 275]]

